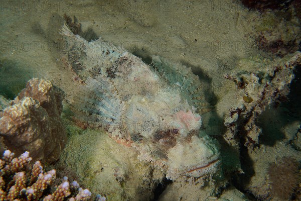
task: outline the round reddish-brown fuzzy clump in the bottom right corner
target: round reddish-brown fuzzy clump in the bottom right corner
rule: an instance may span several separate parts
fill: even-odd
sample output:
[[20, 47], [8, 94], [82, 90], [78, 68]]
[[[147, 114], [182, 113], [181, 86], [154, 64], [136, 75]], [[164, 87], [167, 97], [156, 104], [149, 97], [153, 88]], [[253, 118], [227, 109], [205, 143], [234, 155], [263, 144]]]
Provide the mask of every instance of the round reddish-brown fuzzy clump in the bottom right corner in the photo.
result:
[[273, 197], [289, 199], [300, 180], [299, 163], [293, 158], [284, 157], [276, 164], [270, 164], [268, 175]]

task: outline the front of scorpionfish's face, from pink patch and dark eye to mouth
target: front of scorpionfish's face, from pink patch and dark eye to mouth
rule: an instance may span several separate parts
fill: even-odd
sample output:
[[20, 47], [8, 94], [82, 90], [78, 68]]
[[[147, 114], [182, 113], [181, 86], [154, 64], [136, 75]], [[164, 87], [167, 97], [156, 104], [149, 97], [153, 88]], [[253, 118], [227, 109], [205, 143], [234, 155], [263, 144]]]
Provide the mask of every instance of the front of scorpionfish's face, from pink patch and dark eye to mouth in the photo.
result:
[[197, 113], [179, 111], [172, 116], [169, 129], [158, 132], [154, 140], [166, 155], [167, 177], [202, 177], [217, 172], [218, 142], [209, 136], [199, 137], [201, 117]]

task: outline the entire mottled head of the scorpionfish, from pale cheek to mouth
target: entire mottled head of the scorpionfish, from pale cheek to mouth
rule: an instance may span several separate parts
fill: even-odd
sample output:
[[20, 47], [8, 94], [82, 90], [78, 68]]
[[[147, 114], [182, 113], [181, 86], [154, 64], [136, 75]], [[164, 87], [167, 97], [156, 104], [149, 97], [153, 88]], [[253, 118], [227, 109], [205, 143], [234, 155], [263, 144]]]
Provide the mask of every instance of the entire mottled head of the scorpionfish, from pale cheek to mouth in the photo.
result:
[[217, 171], [219, 145], [209, 136], [199, 137], [199, 114], [190, 109], [174, 112], [162, 102], [156, 105], [145, 98], [132, 101], [126, 120], [131, 140], [148, 152], [147, 160], [151, 156], [152, 161], [165, 164], [168, 178], [202, 177]]

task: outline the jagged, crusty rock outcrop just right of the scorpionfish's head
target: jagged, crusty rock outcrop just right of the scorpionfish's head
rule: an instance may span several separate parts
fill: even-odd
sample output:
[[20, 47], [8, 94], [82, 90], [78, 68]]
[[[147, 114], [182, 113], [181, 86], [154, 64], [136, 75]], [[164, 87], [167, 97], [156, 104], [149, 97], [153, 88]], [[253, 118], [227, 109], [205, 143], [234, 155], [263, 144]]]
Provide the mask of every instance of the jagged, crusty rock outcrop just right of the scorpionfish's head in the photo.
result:
[[[300, 59], [301, 53], [296, 52], [291, 57], [270, 63], [260, 59], [241, 61], [239, 71], [225, 75], [239, 89], [235, 92], [238, 101], [224, 122], [227, 127], [225, 137], [229, 142], [238, 135], [245, 138], [245, 146], [258, 144], [261, 129], [256, 125], [257, 118], [266, 107], [277, 106], [286, 99], [289, 84], [294, 78], [293, 69], [300, 66]], [[248, 69], [257, 70], [250, 72]]]

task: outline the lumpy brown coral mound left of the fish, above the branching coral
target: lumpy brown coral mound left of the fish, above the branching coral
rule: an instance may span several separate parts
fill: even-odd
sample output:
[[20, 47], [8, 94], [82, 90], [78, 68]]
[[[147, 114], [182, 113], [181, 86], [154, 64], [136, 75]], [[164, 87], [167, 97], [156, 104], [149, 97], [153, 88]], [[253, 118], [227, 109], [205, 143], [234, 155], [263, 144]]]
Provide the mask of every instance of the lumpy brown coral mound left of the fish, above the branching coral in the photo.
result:
[[53, 162], [66, 143], [61, 121], [64, 92], [48, 80], [33, 78], [0, 112], [0, 136], [16, 154], [29, 151], [33, 159]]

